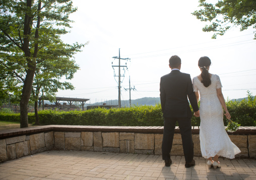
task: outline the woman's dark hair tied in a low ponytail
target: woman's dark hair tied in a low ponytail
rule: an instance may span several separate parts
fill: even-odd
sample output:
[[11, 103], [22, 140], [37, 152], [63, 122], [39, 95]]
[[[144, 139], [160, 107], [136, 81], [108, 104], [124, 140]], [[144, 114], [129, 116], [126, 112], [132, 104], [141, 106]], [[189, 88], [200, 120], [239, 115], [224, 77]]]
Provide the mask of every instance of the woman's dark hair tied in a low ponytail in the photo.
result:
[[211, 60], [207, 56], [201, 57], [198, 61], [198, 66], [202, 69], [201, 77], [202, 77], [202, 83], [204, 84], [205, 87], [208, 87], [211, 85], [211, 77], [206, 69], [208, 66], [210, 66]]

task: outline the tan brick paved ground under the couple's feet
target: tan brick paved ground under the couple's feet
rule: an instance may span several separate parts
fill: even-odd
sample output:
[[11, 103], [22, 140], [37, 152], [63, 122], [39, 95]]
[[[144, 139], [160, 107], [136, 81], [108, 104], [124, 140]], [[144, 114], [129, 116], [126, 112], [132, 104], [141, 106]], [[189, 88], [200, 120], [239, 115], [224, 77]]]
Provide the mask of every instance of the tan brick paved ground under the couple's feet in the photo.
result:
[[0, 163], [0, 179], [256, 179], [256, 160], [220, 159], [209, 169], [203, 157], [185, 168], [183, 156], [165, 167], [159, 155], [48, 151]]

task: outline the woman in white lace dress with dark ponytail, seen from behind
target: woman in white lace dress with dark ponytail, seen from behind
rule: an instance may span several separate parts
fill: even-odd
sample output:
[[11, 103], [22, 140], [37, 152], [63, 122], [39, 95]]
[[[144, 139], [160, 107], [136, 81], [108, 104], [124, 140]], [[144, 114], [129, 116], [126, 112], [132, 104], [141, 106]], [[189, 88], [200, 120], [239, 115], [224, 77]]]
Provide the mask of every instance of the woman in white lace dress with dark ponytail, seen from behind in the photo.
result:
[[[219, 156], [235, 158], [240, 149], [231, 142], [223, 122], [225, 116], [231, 116], [227, 110], [221, 91], [221, 81], [218, 75], [210, 74], [211, 60], [204, 56], [198, 61], [201, 74], [193, 78], [193, 88], [199, 101], [200, 97], [200, 147], [203, 157], [208, 159], [209, 168], [220, 167]], [[200, 96], [199, 96], [200, 93]], [[212, 159], [214, 157], [214, 159]]]

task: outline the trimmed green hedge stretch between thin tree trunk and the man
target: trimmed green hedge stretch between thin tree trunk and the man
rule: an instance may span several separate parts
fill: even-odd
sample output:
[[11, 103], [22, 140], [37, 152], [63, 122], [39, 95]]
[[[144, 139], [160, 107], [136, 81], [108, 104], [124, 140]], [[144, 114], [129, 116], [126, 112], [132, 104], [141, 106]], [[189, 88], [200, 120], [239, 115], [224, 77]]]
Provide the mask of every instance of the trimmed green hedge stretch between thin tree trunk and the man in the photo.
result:
[[161, 105], [87, 111], [40, 111], [42, 124], [97, 126], [163, 126]]

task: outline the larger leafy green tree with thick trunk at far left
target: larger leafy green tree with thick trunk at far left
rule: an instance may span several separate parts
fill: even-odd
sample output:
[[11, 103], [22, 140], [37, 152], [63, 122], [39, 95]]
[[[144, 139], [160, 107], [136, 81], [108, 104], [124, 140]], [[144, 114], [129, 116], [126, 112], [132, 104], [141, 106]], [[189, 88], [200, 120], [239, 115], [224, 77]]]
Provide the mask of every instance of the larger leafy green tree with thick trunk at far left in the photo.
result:
[[[28, 127], [28, 102], [37, 65], [47, 58], [52, 44], [71, 28], [69, 15], [76, 12], [71, 0], [0, 0], [0, 68], [21, 81], [21, 128]], [[74, 52], [84, 45], [70, 45]], [[38, 57], [38, 54], [41, 54]], [[72, 55], [72, 54], [71, 54]]]

